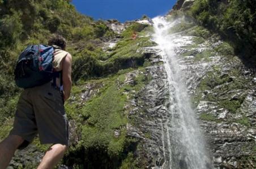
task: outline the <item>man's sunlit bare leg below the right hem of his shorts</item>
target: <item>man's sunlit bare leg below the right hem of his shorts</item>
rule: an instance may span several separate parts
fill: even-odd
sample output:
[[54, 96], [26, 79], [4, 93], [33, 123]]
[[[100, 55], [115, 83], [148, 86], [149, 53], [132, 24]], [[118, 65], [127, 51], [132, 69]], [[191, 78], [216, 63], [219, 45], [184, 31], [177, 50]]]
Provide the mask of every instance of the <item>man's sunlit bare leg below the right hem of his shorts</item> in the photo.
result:
[[42, 158], [42, 162], [40, 163], [37, 169], [53, 168], [62, 159], [66, 150], [66, 145], [54, 144], [45, 153], [44, 158]]

